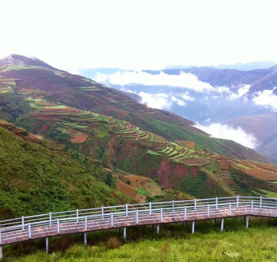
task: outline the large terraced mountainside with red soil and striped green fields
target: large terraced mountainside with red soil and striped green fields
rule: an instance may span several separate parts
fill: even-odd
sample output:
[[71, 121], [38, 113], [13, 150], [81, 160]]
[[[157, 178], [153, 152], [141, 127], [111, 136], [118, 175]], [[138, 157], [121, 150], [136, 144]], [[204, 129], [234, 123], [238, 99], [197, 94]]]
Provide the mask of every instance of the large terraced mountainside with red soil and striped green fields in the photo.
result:
[[274, 183], [267, 183], [277, 180], [276, 167], [254, 150], [212, 138], [193, 121], [89, 78], [28, 60], [27, 65], [2, 65], [0, 79], [1, 119], [64, 145], [65, 154], [104, 167], [113, 178], [102, 171], [94, 178], [110, 187], [114, 181], [136, 201], [277, 192]]

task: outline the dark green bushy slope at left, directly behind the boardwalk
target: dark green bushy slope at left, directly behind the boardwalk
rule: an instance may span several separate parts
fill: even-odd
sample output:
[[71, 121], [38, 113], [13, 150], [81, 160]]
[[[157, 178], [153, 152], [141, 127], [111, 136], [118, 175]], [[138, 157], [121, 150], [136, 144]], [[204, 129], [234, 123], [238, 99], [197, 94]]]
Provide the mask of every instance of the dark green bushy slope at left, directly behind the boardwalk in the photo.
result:
[[28, 141], [28, 132], [20, 132], [23, 138], [0, 127], [0, 219], [134, 202], [101, 182], [113, 184], [102, 166], [45, 139]]

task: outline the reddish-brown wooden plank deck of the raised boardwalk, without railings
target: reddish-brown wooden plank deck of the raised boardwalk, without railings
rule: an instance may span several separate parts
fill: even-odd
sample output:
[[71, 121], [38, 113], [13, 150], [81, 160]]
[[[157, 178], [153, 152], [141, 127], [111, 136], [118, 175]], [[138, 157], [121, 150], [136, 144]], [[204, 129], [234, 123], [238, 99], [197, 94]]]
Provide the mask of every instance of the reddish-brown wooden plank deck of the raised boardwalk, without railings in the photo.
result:
[[[195, 212], [188, 211], [187, 217], [185, 219], [184, 212], [175, 212], [172, 214], [166, 213], [162, 215], [162, 221], [160, 214], [145, 214], [139, 215], [138, 223], [136, 222], [136, 216], [120, 217], [113, 219], [113, 226], [111, 226], [110, 219], [96, 219], [89, 220], [87, 222], [87, 227], [85, 228], [85, 222], [71, 222], [71, 223], [60, 223], [59, 224], [59, 233], [58, 225], [46, 225], [42, 227], [31, 228], [31, 235], [29, 235], [29, 230], [17, 230], [1, 234], [1, 244], [13, 244], [23, 241], [28, 241], [31, 239], [38, 239], [50, 236], [65, 235], [72, 233], [83, 233], [91, 232], [105, 229], [116, 229], [122, 227], [133, 227], [141, 225], [151, 225], [151, 224], [164, 224], [164, 223], [174, 223], [174, 222], [188, 222], [188, 221], [197, 221], [197, 220], [207, 220], [207, 219], [216, 219], [216, 218], [227, 218], [235, 216], [247, 216], [251, 215], [251, 207], [234, 207], [231, 210], [231, 215], [229, 215], [228, 208], [218, 208], [217, 210], [212, 209], [209, 212], [209, 218], [207, 217], [207, 212]], [[253, 216], [264, 216], [264, 217], [276, 217], [276, 209], [260, 209], [255, 207], [253, 209]], [[140, 220], [140, 218], [143, 218]]]

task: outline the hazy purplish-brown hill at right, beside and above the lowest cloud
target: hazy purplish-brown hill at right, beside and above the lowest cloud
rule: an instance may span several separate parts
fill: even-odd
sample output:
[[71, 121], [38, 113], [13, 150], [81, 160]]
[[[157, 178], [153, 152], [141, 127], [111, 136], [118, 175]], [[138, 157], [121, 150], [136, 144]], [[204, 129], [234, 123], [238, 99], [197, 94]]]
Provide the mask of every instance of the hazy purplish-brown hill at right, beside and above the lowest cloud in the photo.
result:
[[261, 154], [277, 157], [277, 113], [236, 117], [225, 123], [234, 127], [240, 126], [248, 133], [254, 134], [259, 142], [256, 150]]

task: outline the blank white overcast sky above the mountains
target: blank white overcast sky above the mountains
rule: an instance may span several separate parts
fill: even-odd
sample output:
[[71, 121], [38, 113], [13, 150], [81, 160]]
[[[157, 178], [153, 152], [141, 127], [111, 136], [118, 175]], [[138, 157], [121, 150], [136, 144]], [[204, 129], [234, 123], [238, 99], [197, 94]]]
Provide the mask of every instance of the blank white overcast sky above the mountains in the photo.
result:
[[27, 0], [0, 10], [0, 57], [65, 70], [277, 61], [276, 0]]

